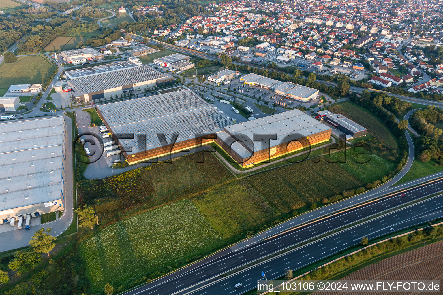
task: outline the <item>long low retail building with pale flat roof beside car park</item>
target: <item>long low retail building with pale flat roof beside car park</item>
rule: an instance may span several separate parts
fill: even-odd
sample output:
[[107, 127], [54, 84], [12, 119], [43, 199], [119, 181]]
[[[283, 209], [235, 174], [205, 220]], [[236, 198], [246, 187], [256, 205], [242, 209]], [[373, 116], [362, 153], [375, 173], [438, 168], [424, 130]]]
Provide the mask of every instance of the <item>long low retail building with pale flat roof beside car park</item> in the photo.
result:
[[306, 87], [291, 82], [282, 82], [271, 78], [263, 77], [254, 73], [241, 77], [244, 84], [265, 88], [274, 91], [277, 95], [287, 97], [292, 100], [307, 102], [315, 99], [319, 95], [319, 90]]

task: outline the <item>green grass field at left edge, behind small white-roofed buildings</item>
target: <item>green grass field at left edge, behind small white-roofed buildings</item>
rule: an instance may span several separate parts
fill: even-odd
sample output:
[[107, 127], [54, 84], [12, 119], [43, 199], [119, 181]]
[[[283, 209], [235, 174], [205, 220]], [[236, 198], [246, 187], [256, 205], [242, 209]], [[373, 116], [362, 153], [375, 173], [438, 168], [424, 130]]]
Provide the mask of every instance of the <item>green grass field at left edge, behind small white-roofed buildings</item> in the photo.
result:
[[14, 62], [4, 62], [0, 66], [0, 88], [9, 88], [12, 84], [44, 85], [54, 69], [54, 65], [39, 55], [23, 56]]

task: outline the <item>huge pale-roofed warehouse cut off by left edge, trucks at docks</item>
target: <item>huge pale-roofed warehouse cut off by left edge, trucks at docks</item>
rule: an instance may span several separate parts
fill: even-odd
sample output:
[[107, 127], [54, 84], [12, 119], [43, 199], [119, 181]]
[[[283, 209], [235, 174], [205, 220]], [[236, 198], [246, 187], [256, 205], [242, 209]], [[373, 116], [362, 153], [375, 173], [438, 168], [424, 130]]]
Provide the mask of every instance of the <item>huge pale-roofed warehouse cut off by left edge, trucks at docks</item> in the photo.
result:
[[2, 123], [0, 224], [64, 211], [65, 137], [63, 117]]

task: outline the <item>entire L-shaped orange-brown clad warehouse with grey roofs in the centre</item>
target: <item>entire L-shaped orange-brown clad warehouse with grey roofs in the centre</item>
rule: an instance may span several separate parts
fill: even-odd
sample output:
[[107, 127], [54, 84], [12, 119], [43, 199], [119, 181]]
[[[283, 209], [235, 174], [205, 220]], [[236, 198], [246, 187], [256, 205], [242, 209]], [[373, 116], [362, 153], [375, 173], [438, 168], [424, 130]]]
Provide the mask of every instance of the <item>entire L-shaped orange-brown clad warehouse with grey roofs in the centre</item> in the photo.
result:
[[[241, 167], [249, 167], [326, 142], [331, 133], [329, 126], [299, 110], [231, 125], [189, 89], [99, 105], [97, 113], [114, 140], [115, 134], [134, 134], [134, 138], [118, 141], [129, 164], [215, 142]], [[179, 134], [174, 144], [160, 143], [157, 134], [165, 134], [170, 142], [174, 133]], [[254, 134], [259, 140], [260, 134], [276, 134], [276, 140], [270, 140], [268, 148], [253, 142]], [[146, 146], [140, 145], [140, 138], [146, 140]]]

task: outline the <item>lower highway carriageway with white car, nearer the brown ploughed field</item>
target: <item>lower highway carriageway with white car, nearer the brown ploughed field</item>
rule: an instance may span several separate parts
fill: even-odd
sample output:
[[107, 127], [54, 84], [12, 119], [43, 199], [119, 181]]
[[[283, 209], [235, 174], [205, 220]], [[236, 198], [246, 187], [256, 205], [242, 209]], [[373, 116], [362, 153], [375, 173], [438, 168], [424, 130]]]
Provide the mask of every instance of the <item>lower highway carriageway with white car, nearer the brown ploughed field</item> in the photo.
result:
[[[208, 284], [201, 289], [190, 292], [180, 291], [174, 294], [241, 294], [256, 288], [257, 281], [263, 279], [261, 276], [262, 270], [266, 275], [266, 279], [278, 279], [281, 276], [284, 276], [286, 269], [291, 268], [292, 270], [295, 270], [315, 261], [322, 260], [330, 255], [345, 250], [352, 245], [359, 244], [363, 237], [371, 239], [385, 234], [395, 235], [395, 231], [391, 231], [391, 228], [394, 230], [401, 230], [435, 218], [440, 218], [443, 216], [442, 209], [443, 195], [440, 195], [304, 245], [291, 252], [264, 261], [241, 272], [237, 272], [233, 276], [225, 278], [218, 277], [216, 282]], [[257, 249], [256, 251], [260, 250]], [[234, 284], [237, 283], [241, 283], [243, 286], [235, 289]], [[158, 293], [151, 293], [151, 295], [156, 294]]]

